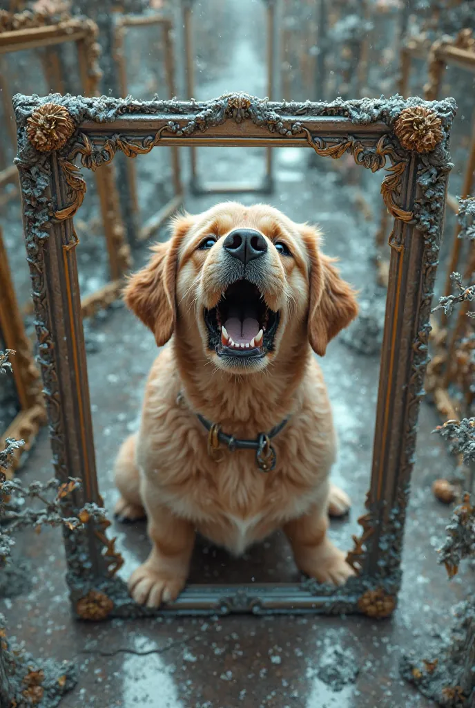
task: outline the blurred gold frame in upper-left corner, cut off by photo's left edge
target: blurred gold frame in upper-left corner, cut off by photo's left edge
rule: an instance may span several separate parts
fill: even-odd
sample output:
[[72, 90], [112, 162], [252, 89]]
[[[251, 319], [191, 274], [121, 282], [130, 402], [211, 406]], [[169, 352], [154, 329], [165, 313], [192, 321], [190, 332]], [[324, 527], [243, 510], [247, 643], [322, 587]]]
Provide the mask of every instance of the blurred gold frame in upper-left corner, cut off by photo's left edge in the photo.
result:
[[[61, 17], [53, 22], [44, 13], [18, 13], [4, 18], [0, 29], [0, 57], [20, 50], [38, 47], [54, 48], [65, 43], [77, 47], [78, 73], [85, 96], [99, 95], [101, 72], [98, 67], [100, 45], [98, 26], [82, 16]], [[55, 76], [60, 76], [56, 67]], [[12, 121], [13, 123], [13, 121]], [[13, 130], [13, 135], [15, 131]], [[16, 137], [16, 136], [15, 136]], [[0, 186], [13, 180], [14, 166], [0, 173]], [[16, 178], [16, 176], [15, 176]], [[105, 247], [107, 249], [110, 282], [83, 299], [83, 316], [91, 316], [99, 309], [109, 307], [122, 289], [123, 276], [131, 266], [129, 245], [120, 216], [119, 195], [112, 167], [105, 166], [95, 174]], [[28, 307], [24, 314], [29, 314]]]

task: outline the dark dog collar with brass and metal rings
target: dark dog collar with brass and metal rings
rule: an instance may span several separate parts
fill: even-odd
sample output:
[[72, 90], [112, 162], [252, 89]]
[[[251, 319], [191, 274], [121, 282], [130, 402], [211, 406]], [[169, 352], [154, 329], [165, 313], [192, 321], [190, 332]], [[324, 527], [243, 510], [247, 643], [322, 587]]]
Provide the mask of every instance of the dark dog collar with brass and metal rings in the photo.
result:
[[[177, 403], [184, 403], [182, 393], [178, 394]], [[234, 435], [223, 433], [218, 423], [211, 423], [207, 418], [201, 416], [201, 413], [195, 413], [195, 415], [201, 425], [208, 430], [208, 452], [210, 457], [215, 459], [216, 462], [222, 459], [222, 457], [218, 455], [222, 443], [228, 447], [230, 452], [234, 452], [235, 450], [256, 450], [256, 464], [261, 472], [271, 472], [271, 470], [276, 467], [277, 455], [274, 447], [271, 445], [271, 440], [285, 428], [289, 418], [284, 418], [281, 423], [278, 423], [277, 426], [269, 430], [269, 433], [259, 433], [254, 440], [242, 440], [235, 438]]]

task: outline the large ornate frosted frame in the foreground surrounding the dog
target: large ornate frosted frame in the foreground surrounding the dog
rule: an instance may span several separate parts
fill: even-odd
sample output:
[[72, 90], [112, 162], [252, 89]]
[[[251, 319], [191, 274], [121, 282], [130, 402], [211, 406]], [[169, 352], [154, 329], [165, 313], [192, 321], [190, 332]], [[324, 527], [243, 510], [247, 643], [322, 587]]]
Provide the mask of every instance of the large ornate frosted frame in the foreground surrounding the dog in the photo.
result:
[[[117, 576], [122, 558], [108, 522], [64, 533], [71, 601], [78, 617], [141, 617], [171, 612], [363, 612], [394, 610], [401, 581], [404, 519], [414, 463], [418, 409], [428, 362], [429, 314], [450, 171], [455, 102], [399, 96], [333, 103], [270, 103], [243, 93], [213, 101], [132, 101], [59, 95], [16, 96], [16, 164], [33, 283], [36, 330], [55, 471], [83, 481], [65, 513], [102, 503], [95, 472], [86, 352], [81, 323], [73, 217], [85, 195], [86, 169], [159, 146], [302, 147], [322, 157], [345, 153], [373, 172], [387, 169], [381, 192], [394, 217], [380, 365], [373, 467], [360, 537], [347, 560], [357, 576], [345, 586], [316, 581], [232, 586], [189, 585], [160, 610], [136, 605]], [[39, 125], [52, 125], [49, 150]], [[44, 129], [42, 129], [43, 131]], [[38, 177], [41, 174], [41, 179]], [[33, 198], [33, 195], [35, 197]], [[45, 207], [44, 204], [48, 206]], [[74, 365], [64, 365], [64, 362]]]

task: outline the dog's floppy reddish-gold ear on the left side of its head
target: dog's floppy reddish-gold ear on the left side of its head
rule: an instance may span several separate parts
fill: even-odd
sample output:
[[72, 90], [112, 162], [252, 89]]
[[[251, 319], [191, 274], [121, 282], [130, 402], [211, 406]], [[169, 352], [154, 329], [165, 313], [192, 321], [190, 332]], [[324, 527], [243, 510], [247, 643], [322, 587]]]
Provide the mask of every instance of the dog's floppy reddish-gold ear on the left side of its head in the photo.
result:
[[175, 219], [171, 239], [152, 246], [150, 261], [130, 276], [124, 288], [125, 304], [151, 329], [159, 347], [168, 342], [175, 329], [178, 250], [192, 222], [188, 215]]

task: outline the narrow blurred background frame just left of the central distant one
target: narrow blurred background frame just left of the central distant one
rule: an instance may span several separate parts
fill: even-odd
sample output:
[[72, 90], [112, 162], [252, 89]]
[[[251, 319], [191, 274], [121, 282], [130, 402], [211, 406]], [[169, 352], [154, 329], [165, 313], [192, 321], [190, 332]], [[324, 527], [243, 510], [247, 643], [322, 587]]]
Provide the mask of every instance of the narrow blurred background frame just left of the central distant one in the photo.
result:
[[[122, 96], [127, 96], [127, 62], [124, 55], [124, 41], [129, 28], [139, 27], [156, 27], [162, 34], [163, 41], [163, 56], [165, 62], [165, 79], [167, 83], [168, 98], [170, 100], [176, 96], [175, 89], [175, 52], [173, 50], [172, 30], [173, 25], [170, 18], [163, 16], [160, 13], [152, 13], [146, 15], [121, 15], [115, 23], [115, 38], [114, 38], [114, 59], [117, 66], [117, 74], [119, 76], [119, 87]], [[165, 223], [183, 202], [183, 187], [180, 175], [180, 153], [177, 147], [172, 147], [172, 175], [173, 175], [173, 191], [172, 198], [156, 212], [153, 216], [147, 219], [146, 223], [141, 226], [139, 233], [136, 236], [137, 241], [146, 241], [151, 236], [158, 232], [158, 229]], [[134, 161], [127, 160], [126, 169], [129, 173], [128, 183], [131, 191], [131, 210], [136, 215], [139, 212], [139, 200], [137, 196], [137, 174]], [[138, 222], [138, 219], [137, 219]]]

